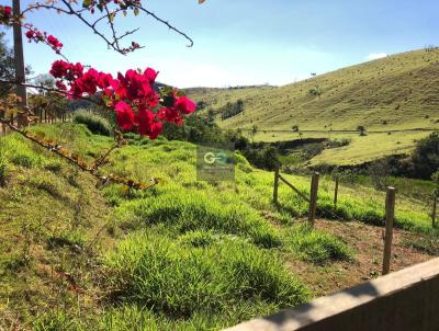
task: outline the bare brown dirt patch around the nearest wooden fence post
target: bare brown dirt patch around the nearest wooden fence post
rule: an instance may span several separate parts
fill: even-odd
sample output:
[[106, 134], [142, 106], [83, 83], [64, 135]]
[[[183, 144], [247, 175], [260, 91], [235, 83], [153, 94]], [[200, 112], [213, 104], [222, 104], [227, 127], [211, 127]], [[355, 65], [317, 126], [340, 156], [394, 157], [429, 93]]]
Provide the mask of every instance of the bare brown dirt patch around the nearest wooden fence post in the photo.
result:
[[[354, 250], [354, 261], [314, 265], [299, 260], [289, 260], [289, 269], [297, 274], [312, 289], [314, 296], [323, 296], [350, 287], [381, 275], [383, 259], [382, 228], [359, 221], [336, 221], [319, 219], [316, 228], [323, 229], [344, 240]], [[391, 271], [421, 263], [434, 258], [407, 243], [421, 236], [395, 229], [392, 248]]]

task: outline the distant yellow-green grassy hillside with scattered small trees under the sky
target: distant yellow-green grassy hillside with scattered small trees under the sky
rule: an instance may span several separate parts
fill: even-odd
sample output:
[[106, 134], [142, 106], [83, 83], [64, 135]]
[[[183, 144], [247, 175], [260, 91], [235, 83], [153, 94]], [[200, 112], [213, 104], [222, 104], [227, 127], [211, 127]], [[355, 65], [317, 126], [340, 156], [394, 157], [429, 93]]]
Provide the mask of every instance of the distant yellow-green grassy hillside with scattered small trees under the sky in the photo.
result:
[[[316, 88], [320, 95], [309, 93]], [[245, 111], [225, 121], [217, 116], [218, 124], [244, 129], [257, 125], [256, 140], [299, 139], [294, 125], [304, 138], [352, 139], [348, 147], [327, 150], [312, 161], [333, 164], [409, 151], [428, 134], [419, 128], [439, 128], [438, 95], [439, 50], [398, 54], [280, 88], [191, 91], [216, 112], [243, 100]], [[360, 125], [368, 136], [354, 132]]]

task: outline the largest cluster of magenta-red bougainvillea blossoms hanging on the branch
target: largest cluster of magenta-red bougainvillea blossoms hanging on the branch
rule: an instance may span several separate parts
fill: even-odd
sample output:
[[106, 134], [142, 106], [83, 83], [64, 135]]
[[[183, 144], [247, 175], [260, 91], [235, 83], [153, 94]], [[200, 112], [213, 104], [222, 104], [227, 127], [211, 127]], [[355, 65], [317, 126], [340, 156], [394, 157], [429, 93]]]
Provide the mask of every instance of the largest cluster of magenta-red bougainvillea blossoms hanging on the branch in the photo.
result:
[[94, 68], [86, 70], [81, 64], [57, 60], [50, 73], [57, 79], [57, 88], [72, 99], [98, 93], [114, 110], [122, 130], [136, 130], [150, 139], [160, 135], [164, 122], [182, 124], [183, 116], [195, 111], [195, 103], [177, 89], [158, 92], [155, 89], [158, 72], [151, 68], [119, 72], [113, 78]]

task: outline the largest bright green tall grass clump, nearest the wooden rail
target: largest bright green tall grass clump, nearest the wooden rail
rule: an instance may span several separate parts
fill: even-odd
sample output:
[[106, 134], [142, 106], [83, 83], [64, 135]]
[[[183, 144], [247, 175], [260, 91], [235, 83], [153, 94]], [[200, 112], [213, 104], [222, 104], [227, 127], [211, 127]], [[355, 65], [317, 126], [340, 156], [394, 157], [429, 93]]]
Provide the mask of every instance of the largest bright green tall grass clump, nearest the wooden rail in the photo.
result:
[[157, 233], [137, 233], [121, 242], [105, 263], [110, 284], [125, 301], [175, 318], [255, 301], [285, 308], [308, 298], [275, 254], [243, 240], [198, 248]]

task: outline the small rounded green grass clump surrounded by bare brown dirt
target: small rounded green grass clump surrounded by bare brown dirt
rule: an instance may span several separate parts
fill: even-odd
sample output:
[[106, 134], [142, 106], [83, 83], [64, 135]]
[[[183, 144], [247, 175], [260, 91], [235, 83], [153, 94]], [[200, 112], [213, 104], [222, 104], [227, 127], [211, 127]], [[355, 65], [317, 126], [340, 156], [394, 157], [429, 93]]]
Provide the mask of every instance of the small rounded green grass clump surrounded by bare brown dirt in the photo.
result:
[[316, 264], [350, 260], [351, 250], [338, 238], [307, 225], [294, 227], [288, 235], [288, 243], [302, 260]]

